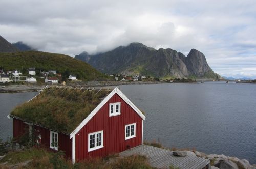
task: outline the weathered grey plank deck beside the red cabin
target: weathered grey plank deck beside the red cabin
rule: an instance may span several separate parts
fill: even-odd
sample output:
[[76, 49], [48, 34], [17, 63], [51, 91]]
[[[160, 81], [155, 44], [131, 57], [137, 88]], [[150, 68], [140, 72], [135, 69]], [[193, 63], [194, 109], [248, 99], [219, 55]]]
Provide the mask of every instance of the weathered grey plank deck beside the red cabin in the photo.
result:
[[126, 150], [119, 153], [121, 157], [131, 155], [145, 155], [151, 166], [156, 168], [169, 168], [169, 166], [178, 167], [180, 169], [202, 169], [210, 163], [208, 159], [199, 158], [193, 155], [177, 157], [173, 152], [148, 145], [140, 145], [132, 150]]

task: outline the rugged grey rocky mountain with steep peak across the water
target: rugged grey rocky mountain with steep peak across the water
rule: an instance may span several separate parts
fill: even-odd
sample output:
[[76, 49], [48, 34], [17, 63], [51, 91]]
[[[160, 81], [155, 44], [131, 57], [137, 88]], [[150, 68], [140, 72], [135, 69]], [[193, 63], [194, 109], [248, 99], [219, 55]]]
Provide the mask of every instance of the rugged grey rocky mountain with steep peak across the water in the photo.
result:
[[131, 43], [95, 55], [83, 52], [75, 58], [108, 74], [141, 74], [161, 78], [220, 78], [220, 75], [211, 70], [204, 54], [196, 49], [191, 49], [185, 57], [173, 49], [156, 50], [142, 43]]

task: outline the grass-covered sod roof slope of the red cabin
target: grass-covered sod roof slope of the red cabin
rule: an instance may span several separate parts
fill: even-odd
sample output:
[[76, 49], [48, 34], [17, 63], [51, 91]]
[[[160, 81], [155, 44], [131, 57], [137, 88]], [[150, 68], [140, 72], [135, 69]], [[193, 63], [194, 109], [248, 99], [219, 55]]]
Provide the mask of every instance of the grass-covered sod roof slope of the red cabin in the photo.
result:
[[46, 88], [11, 115], [24, 121], [70, 134], [111, 90]]

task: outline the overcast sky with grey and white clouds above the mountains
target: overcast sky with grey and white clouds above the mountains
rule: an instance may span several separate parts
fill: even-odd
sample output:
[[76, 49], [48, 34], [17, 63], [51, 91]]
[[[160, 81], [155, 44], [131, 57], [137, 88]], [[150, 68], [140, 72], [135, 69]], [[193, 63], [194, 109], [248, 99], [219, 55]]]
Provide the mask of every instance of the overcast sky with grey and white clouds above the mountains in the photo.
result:
[[222, 76], [256, 78], [256, 2], [0, 1], [0, 35], [74, 57], [131, 42], [203, 52]]

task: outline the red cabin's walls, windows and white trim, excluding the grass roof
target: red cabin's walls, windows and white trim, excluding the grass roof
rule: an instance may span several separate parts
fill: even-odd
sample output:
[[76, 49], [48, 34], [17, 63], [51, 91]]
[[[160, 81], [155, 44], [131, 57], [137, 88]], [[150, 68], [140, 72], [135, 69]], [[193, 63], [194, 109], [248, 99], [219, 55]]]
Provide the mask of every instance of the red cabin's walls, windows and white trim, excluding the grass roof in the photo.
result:
[[40, 136], [40, 144], [56, 151], [65, 151], [73, 162], [119, 153], [141, 145], [145, 119], [118, 88], [106, 95], [71, 133], [62, 133], [17, 115], [11, 114], [10, 117], [13, 118], [14, 138], [33, 127], [33, 131]]

